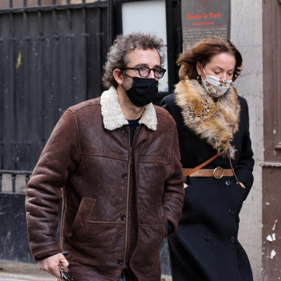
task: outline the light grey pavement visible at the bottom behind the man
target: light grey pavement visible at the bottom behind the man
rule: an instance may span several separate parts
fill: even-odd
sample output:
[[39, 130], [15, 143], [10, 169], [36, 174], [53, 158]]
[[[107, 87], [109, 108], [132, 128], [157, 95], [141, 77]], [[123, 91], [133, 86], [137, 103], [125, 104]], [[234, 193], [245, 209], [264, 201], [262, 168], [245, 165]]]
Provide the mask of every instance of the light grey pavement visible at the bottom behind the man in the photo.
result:
[[[26, 264], [0, 260], [0, 279], [27, 281], [56, 281], [49, 273], [39, 270], [37, 263]], [[163, 275], [165, 281], [172, 281], [171, 276]], [[89, 280], [90, 281], [90, 280]]]

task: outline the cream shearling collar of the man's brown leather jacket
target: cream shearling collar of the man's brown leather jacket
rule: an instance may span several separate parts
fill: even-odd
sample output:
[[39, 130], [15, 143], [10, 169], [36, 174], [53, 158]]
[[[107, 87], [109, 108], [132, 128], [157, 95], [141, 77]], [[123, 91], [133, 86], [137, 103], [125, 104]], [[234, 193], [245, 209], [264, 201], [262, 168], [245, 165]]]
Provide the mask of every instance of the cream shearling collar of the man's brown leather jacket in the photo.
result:
[[[118, 102], [118, 94], [114, 87], [111, 86], [108, 91], [102, 93], [100, 105], [103, 124], [106, 129], [111, 131], [129, 124]], [[153, 131], [156, 130], [156, 110], [152, 103], [145, 106], [139, 124], [146, 125]]]

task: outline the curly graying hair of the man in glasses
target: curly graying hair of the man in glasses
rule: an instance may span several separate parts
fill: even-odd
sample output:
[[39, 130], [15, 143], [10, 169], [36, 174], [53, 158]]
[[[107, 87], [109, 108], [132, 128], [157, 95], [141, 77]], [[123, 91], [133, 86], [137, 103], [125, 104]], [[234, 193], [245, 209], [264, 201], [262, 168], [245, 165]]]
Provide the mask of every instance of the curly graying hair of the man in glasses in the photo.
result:
[[117, 87], [118, 83], [113, 77], [114, 69], [124, 69], [127, 65], [127, 54], [135, 49], [156, 49], [160, 64], [163, 67], [165, 62], [165, 48], [163, 40], [156, 37], [155, 34], [132, 32], [127, 35], [118, 35], [113, 45], [109, 48], [106, 63], [104, 65], [104, 74], [102, 81], [105, 87]]

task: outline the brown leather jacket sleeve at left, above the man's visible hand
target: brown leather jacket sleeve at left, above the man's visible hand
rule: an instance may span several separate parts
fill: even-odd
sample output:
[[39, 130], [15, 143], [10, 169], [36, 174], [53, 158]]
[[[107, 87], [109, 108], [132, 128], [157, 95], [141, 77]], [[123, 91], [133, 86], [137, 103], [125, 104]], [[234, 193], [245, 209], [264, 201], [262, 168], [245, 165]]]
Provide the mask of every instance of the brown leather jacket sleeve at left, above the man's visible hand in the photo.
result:
[[47, 141], [26, 188], [26, 219], [34, 260], [62, 251], [56, 240], [61, 188], [78, 160], [75, 120], [67, 110]]

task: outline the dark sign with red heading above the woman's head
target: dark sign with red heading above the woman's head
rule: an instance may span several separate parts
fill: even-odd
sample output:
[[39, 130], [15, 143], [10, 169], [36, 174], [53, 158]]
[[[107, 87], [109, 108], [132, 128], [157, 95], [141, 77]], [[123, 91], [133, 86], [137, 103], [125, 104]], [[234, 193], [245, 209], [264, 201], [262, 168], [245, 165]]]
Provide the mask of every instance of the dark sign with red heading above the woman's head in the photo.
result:
[[183, 49], [197, 41], [220, 36], [230, 39], [231, 0], [183, 0]]

